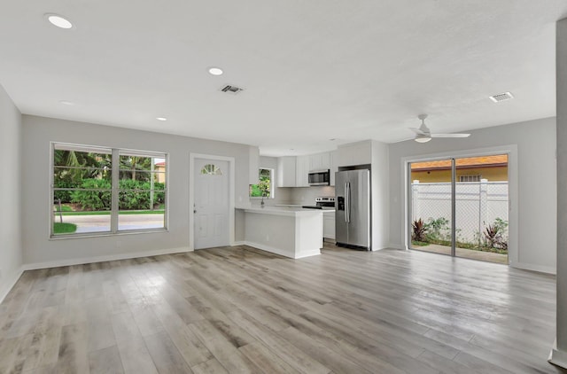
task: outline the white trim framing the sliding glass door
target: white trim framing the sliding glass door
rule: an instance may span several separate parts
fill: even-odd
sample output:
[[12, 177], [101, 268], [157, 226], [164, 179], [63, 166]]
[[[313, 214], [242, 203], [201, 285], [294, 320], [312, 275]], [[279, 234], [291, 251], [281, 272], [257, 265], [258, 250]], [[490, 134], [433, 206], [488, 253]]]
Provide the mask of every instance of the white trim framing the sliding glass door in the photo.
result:
[[494, 154], [505, 154], [509, 155], [508, 159], [508, 193], [509, 193], [509, 245], [508, 245], [508, 262], [509, 266], [513, 268], [524, 269], [523, 264], [519, 261], [519, 243], [518, 243], [518, 230], [519, 230], [519, 219], [518, 219], [518, 167], [517, 167], [517, 144], [506, 144], [487, 148], [475, 148], [469, 150], [451, 151], [451, 152], [439, 152], [430, 153], [423, 155], [416, 155], [410, 157], [403, 157], [401, 159], [401, 168], [403, 172], [401, 173], [401, 195], [404, 196], [404, 201], [402, 204], [403, 212], [401, 214], [403, 222], [400, 222], [403, 228], [401, 235], [401, 242], [404, 244], [404, 249], [409, 249], [408, 243], [408, 230], [409, 230], [409, 220], [408, 220], [408, 163], [416, 161], [426, 161], [426, 160], [440, 160], [448, 158], [462, 158], [462, 157], [477, 157], [477, 156], [489, 156]]

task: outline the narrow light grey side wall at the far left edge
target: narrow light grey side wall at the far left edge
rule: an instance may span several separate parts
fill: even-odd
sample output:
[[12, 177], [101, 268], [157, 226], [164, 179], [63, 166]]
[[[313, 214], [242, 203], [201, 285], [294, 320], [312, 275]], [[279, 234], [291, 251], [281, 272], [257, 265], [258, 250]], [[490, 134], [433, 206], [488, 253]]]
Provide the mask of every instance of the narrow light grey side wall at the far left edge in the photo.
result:
[[0, 301], [21, 274], [21, 114], [0, 86]]

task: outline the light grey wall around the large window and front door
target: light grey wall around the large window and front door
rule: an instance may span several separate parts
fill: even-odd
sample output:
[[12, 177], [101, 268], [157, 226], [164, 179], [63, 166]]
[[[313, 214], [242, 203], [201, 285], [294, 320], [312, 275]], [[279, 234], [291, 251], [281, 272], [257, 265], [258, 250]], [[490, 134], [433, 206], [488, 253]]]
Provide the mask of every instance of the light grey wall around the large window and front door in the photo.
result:
[[[24, 263], [62, 264], [136, 253], [187, 251], [189, 238], [190, 152], [236, 159], [236, 204], [248, 199], [249, 146], [120, 129], [82, 122], [22, 116], [22, 218]], [[168, 231], [97, 238], [50, 239], [50, 141], [92, 144], [169, 154]], [[12, 139], [12, 143], [16, 142]], [[13, 149], [13, 148], [12, 148]], [[13, 154], [4, 160], [15, 160]], [[10, 168], [12, 169], [12, 168]], [[18, 169], [18, 168], [14, 168]], [[3, 237], [4, 238], [4, 235]]]

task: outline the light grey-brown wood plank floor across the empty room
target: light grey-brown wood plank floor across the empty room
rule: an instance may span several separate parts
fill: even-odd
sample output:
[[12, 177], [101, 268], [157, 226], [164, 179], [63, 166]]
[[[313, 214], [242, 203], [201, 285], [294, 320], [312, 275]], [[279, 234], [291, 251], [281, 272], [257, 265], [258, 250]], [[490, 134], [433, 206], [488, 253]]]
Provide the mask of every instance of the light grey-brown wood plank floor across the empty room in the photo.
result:
[[532, 373], [555, 277], [431, 253], [250, 247], [27, 271], [0, 373]]

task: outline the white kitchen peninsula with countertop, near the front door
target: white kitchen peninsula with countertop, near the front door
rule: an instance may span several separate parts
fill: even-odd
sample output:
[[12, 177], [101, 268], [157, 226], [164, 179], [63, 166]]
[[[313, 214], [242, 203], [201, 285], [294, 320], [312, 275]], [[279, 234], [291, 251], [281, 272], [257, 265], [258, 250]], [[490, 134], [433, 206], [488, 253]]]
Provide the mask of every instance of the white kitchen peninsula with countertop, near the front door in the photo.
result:
[[321, 254], [322, 211], [295, 206], [237, 207], [237, 240], [300, 259]]

